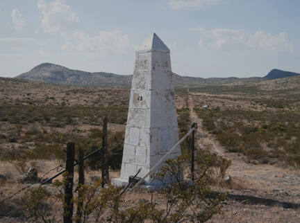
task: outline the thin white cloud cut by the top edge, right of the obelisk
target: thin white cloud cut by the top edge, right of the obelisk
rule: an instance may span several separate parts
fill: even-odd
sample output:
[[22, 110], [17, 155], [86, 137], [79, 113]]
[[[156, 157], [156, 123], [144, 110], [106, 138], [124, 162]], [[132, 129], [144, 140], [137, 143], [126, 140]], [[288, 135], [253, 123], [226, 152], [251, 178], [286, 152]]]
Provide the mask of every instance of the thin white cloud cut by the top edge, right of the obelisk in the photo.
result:
[[173, 10], [181, 8], [201, 8], [204, 5], [217, 4], [222, 0], [168, 0], [169, 7]]

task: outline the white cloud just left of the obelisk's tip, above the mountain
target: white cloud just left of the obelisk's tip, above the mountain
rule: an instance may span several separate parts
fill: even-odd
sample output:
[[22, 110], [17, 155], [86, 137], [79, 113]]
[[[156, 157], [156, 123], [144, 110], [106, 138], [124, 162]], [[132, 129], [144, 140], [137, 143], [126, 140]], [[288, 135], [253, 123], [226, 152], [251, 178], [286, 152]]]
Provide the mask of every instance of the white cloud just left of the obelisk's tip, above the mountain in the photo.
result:
[[122, 34], [119, 30], [112, 32], [100, 30], [97, 35], [89, 35], [83, 30], [76, 30], [63, 44], [65, 51], [77, 51], [86, 53], [124, 53], [130, 45], [128, 35]]

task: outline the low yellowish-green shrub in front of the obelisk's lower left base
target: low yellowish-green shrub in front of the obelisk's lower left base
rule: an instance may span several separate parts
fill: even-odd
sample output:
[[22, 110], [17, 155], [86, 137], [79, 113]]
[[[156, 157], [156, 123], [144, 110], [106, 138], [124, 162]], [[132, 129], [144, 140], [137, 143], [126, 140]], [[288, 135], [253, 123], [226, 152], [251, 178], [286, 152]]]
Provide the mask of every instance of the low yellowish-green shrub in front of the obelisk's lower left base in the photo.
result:
[[[61, 188], [63, 181], [56, 181], [55, 184]], [[80, 190], [81, 197], [74, 197], [75, 204], [83, 203], [81, 216], [73, 217], [76, 222], [161, 222], [163, 211], [158, 210], [155, 204], [135, 202], [131, 206], [124, 206], [124, 195], [120, 195], [122, 188], [101, 188], [101, 181], [95, 181], [92, 185], [82, 185]], [[63, 203], [63, 194], [59, 193], [57, 197], [60, 197], [60, 202]]]

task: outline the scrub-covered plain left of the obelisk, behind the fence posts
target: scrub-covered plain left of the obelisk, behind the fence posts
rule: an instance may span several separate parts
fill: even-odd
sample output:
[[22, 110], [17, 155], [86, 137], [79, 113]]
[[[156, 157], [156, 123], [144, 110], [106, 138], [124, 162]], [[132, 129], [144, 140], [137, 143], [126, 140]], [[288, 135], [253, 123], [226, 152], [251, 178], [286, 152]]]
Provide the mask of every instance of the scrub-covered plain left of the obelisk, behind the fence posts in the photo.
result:
[[[113, 168], [122, 159], [128, 89], [97, 89], [0, 81], [0, 160], [24, 163], [35, 159], [62, 160], [67, 141], [80, 142], [86, 152], [101, 146], [103, 118], [109, 130]], [[117, 155], [116, 155], [117, 154]], [[29, 165], [29, 164], [28, 164]], [[95, 164], [93, 164], [95, 165]]]

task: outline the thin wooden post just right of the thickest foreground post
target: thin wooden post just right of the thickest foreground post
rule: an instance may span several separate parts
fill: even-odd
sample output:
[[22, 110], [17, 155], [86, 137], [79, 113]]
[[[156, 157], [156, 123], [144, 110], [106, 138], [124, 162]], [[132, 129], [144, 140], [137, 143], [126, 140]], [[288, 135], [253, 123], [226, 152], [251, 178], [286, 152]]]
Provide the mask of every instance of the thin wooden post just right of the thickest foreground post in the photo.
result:
[[78, 150], [78, 204], [76, 213], [76, 222], [81, 222], [81, 216], [83, 211], [83, 184], [85, 184], [84, 177], [84, 161], [83, 161], [83, 149], [79, 147]]

